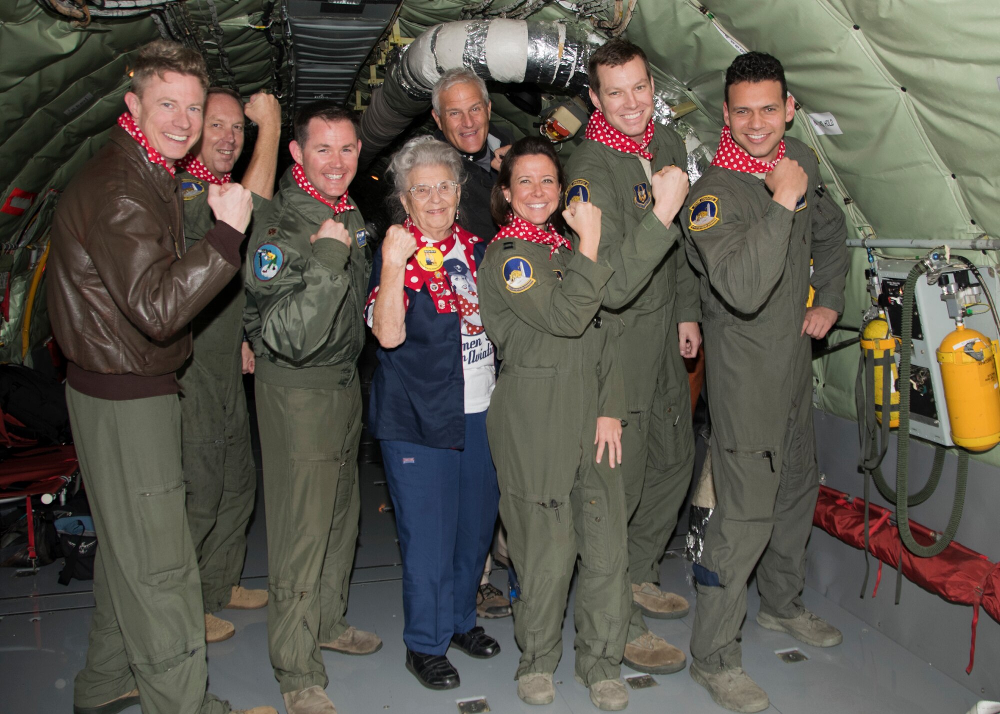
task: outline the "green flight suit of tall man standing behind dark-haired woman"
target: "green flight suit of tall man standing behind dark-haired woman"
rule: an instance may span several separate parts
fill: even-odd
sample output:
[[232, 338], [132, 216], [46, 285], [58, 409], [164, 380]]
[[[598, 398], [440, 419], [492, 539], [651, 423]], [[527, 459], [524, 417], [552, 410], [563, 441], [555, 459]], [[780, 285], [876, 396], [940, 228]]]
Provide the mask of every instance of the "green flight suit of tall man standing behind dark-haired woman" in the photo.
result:
[[[566, 167], [567, 196], [573, 198], [580, 191], [574, 186], [582, 185], [601, 209], [599, 255], [615, 269], [601, 309], [625, 324], [619, 353], [629, 426], [622, 435], [622, 478], [630, 519], [629, 578], [636, 584], [660, 581], [659, 562], [694, 471], [690, 387], [677, 323], [701, 319], [680, 228], [666, 227], [653, 215], [650, 176], [671, 164], [686, 166], [684, 143], [676, 132], [657, 126], [648, 148], [652, 162], [584, 140]], [[645, 256], [656, 266], [651, 278], [626, 241], [637, 231], [662, 237], [657, 251]], [[628, 641], [647, 630], [633, 606]]]

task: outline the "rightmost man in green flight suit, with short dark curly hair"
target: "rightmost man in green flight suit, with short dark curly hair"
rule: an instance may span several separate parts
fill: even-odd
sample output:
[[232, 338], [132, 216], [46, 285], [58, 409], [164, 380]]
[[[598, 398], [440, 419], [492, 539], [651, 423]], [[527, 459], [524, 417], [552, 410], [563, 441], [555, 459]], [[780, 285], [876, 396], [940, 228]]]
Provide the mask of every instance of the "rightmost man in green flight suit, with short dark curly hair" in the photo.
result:
[[844, 308], [847, 236], [816, 155], [783, 139], [795, 100], [778, 60], [733, 61], [723, 116], [683, 221], [701, 274], [717, 499], [694, 565], [690, 671], [717, 704], [757, 712], [768, 697], [743, 671], [738, 642], [755, 566], [761, 626], [815, 647], [843, 639], [799, 595], [819, 490], [810, 338], [825, 337]]

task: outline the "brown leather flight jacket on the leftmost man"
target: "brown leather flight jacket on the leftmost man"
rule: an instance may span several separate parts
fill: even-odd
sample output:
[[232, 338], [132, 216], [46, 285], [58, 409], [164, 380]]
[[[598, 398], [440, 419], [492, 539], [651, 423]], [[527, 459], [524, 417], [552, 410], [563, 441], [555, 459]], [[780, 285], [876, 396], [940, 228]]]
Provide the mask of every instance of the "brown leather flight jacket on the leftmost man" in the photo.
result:
[[48, 309], [70, 386], [107, 399], [177, 391], [187, 325], [240, 265], [242, 233], [220, 221], [205, 238], [185, 251], [178, 180], [114, 127], [52, 224]]

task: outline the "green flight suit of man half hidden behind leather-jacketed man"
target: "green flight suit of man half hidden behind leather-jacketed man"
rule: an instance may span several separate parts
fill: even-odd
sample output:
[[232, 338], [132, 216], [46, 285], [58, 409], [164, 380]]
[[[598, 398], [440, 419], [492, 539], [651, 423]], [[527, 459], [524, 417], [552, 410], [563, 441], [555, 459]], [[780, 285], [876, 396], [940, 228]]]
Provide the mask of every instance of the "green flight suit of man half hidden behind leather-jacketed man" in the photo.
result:
[[[178, 174], [188, 249], [215, 225], [208, 182]], [[254, 195], [254, 209], [267, 205]], [[243, 392], [243, 277], [237, 275], [191, 322], [194, 351], [177, 372], [185, 507], [198, 556], [205, 612], [229, 604], [246, 557], [247, 524], [257, 493], [250, 415]]]

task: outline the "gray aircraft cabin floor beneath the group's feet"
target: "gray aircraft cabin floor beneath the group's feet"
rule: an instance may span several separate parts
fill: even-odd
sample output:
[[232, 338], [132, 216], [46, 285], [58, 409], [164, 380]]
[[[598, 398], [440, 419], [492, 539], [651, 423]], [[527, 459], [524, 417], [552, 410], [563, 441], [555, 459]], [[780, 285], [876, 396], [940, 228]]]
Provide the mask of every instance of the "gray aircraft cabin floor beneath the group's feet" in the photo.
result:
[[[252, 406], [251, 406], [252, 410]], [[362, 455], [364, 455], [364, 447]], [[259, 460], [259, 457], [258, 457]], [[259, 478], [259, 475], [258, 475]], [[267, 587], [265, 504], [258, 489], [257, 511], [248, 536], [243, 585]], [[490, 660], [475, 660], [461, 652], [450, 656], [462, 686], [448, 692], [421, 687], [404, 667], [402, 640], [402, 567], [395, 542], [395, 525], [384, 476], [378, 464], [361, 464], [361, 532], [351, 578], [348, 618], [351, 624], [377, 632], [385, 642], [368, 657], [324, 652], [330, 685], [327, 691], [340, 714], [446, 714], [459, 711], [458, 700], [484, 697], [493, 712], [584, 714], [596, 712], [587, 690], [573, 681], [572, 597], [563, 629], [563, 660], [556, 671], [556, 700], [532, 707], [517, 698], [513, 675], [518, 660], [510, 618], [480, 620], [496, 637], [502, 652]], [[661, 566], [662, 585], [694, 602], [690, 566], [680, 557], [683, 539], [675, 537]], [[3, 714], [66, 713], [72, 711], [73, 677], [87, 650], [91, 582], [57, 583], [59, 565], [37, 575], [14, 578], [13, 569], [0, 571], [0, 712]], [[492, 580], [506, 589], [506, 572], [494, 570]], [[977, 697], [944, 673], [905, 650], [860, 619], [807, 588], [809, 608], [836, 624], [844, 643], [831, 649], [809, 647], [756, 624], [759, 597], [751, 585], [749, 616], [743, 629], [745, 669], [768, 692], [779, 714], [964, 714]], [[234, 707], [270, 704], [284, 712], [267, 655], [266, 609], [220, 613], [236, 625], [236, 635], [208, 646], [210, 690]], [[656, 634], [688, 652], [692, 608], [681, 620], [649, 620]], [[794, 663], [776, 654], [797, 648], [808, 659]], [[636, 676], [623, 667], [625, 677]], [[627, 711], [723, 713], [708, 694], [679, 672], [654, 676], [656, 686], [630, 689]], [[138, 707], [125, 710], [138, 712]], [[475, 711], [486, 711], [477, 709]]]

